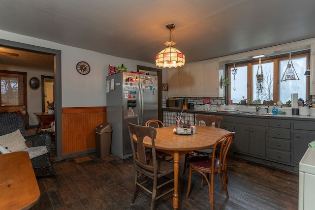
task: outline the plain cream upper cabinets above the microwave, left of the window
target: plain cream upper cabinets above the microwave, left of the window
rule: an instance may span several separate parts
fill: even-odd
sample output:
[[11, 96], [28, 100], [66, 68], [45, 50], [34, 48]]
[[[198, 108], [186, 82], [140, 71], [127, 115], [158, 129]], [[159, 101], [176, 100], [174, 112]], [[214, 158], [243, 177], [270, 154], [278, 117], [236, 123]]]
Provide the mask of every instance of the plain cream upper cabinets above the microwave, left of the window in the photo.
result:
[[220, 88], [223, 70], [219, 62], [204, 62], [168, 70], [168, 96], [171, 97], [223, 97]]

